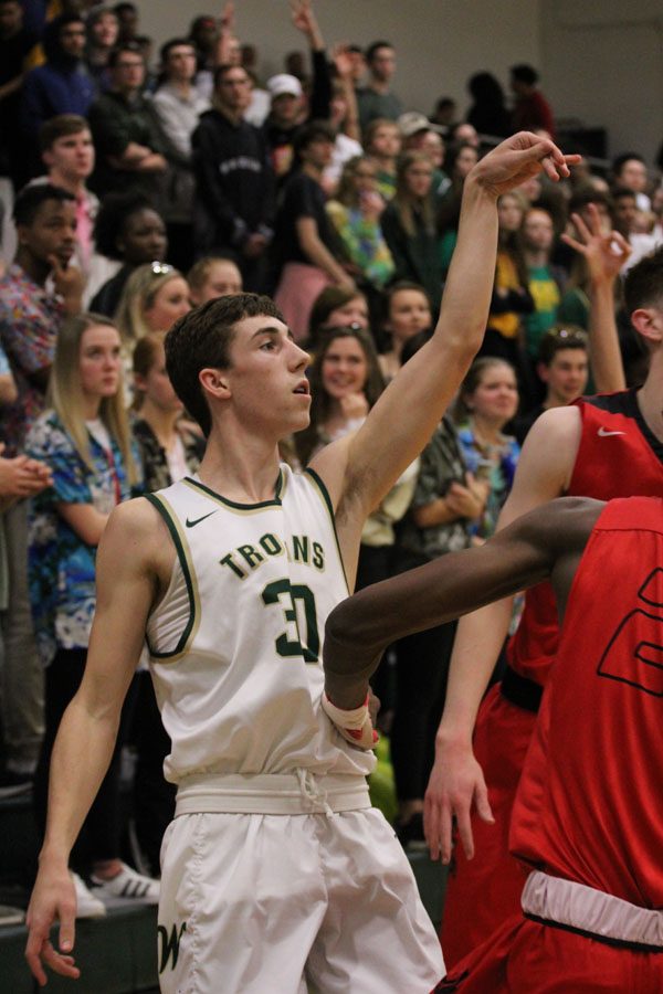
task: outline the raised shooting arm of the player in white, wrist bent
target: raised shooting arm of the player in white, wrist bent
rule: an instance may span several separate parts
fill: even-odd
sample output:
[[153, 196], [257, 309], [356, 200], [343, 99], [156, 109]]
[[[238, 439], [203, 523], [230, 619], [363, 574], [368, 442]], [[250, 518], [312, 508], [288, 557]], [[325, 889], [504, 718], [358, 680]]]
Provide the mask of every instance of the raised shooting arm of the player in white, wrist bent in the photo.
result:
[[356, 435], [328, 446], [313, 464], [337, 508], [341, 549], [350, 562], [366, 514], [427, 444], [481, 345], [495, 271], [497, 198], [541, 170], [554, 179], [567, 176], [576, 159], [548, 139], [522, 133], [490, 152], [465, 180], [459, 241], [433, 337], [400, 370]]

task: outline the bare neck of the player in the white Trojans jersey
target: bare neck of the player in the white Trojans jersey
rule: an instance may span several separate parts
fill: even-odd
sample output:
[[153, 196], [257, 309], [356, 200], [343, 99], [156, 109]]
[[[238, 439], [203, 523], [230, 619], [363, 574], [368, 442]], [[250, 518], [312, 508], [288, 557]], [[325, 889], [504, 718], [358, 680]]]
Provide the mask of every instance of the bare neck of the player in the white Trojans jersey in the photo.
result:
[[260, 504], [274, 497], [278, 463], [275, 443], [243, 438], [236, 444], [212, 429], [199, 476], [206, 486], [228, 500]]

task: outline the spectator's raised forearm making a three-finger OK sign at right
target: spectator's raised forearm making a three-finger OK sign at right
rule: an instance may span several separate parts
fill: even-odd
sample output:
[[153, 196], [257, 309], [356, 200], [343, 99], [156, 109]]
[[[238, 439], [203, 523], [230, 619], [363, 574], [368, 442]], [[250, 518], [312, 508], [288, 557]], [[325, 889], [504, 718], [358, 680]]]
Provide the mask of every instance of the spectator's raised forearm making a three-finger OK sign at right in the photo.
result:
[[598, 393], [611, 393], [627, 385], [614, 319], [614, 282], [631, 254], [631, 247], [618, 231], [601, 230], [596, 204], [587, 207], [588, 222], [572, 214], [577, 237], [564, 234], [562, 241], [585, 257], [590, 278], [589, 359]]

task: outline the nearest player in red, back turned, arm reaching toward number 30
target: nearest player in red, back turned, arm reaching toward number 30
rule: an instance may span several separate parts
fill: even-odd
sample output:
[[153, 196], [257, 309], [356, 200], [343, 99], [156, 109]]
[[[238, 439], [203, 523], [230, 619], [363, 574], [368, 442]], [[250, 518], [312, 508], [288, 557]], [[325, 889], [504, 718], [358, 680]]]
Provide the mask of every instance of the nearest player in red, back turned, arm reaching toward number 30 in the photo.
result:
[[[662, 562], [663, 499], [562, 498], [329, 616], [326, 692], [351, 709], [393, 638], [544, 577], [564, 615], [512, 823], [523, 911], [440, 991], [663, 990]], [[449, 824], [429, 814], [427, 837], [449, 846]]]

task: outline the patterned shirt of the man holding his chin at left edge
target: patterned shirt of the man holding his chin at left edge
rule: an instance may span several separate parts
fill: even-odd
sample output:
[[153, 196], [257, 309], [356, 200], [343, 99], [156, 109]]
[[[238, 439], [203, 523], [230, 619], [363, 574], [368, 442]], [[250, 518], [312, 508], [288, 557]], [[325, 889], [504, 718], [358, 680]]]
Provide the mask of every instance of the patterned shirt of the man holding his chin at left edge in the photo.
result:
[[63, 318], [62, 302], [30, 279], [21, 266], [10, 266], [0, 278], [0, 345], [19, 392], [0, 417], [0, 438], [8, 456], [21, 451], [30, 426], [44, 409], [44, 393], [33, 382], [33, 374], [52, 364]]

